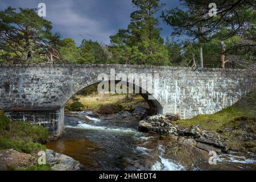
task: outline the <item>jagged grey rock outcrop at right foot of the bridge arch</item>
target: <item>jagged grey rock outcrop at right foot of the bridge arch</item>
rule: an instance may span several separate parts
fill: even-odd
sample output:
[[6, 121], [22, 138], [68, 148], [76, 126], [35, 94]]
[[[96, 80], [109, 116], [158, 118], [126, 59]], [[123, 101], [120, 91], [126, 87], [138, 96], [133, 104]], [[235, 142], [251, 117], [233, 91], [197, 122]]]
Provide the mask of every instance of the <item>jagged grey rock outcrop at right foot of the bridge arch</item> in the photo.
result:
[[[167, 137], [188, 137], [195, 140], [195, 147], [205, 151], [216, 150], [217, 152], [228, 151], [228, 144], [224, 139], [213, 131], [201, 130], [199, 126], [181, 126], [176, 115], [153, 115], [139, 122], [139, 131], [158, 133]], [[190, 141], [190, 140], [189, 140]]]

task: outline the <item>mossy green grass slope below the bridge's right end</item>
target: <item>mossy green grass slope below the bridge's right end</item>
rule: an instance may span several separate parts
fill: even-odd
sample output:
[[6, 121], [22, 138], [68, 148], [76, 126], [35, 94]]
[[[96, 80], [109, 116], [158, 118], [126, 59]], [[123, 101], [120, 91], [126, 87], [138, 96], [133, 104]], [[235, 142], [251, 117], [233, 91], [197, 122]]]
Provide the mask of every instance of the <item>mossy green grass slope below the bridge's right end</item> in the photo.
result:
[[174, 122], [179, 126], [198, 126], [218, 133], [230, 150], [256, 153], [256, 93], [249, 93], [236, 104], [215, 114], [198, 115]]

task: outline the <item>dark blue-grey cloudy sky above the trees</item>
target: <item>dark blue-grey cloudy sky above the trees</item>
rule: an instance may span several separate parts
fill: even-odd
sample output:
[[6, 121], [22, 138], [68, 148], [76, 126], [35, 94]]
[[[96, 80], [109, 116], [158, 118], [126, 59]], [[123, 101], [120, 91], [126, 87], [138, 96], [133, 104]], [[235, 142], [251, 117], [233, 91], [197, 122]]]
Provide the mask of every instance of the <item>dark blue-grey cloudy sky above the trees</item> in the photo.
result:
[[[109, 36], [119, 28], [127, 28], [130, 13], [134, 11], [130, 0], [0, 0], [0, 10], [8, 6], [15, 8], [37, 8], [46, 3], [46, 19], [53, 24], [53, 31], [62, 38], [72, 38], [80, 45], [82, 39], [97, 40], [109, 44]], [[162, 0], [166, 9], [179, 6], [179, 0]], [[162, 37], [171, 34], [171, 28], [159, 20], [163, 28]]]

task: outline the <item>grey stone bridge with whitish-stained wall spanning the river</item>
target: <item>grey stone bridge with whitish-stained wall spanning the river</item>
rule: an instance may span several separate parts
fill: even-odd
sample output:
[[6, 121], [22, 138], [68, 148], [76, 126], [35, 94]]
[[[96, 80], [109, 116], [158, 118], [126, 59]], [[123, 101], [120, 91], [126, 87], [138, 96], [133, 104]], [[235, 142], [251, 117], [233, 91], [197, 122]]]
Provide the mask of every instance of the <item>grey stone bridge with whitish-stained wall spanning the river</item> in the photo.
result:
[[[97, 84], [100, 73], [156, 73], [158, 88], [138, 85], [151, 114], [191, 118], [212, 114], [255, 90], [255, 75], [245, 69], [185, 68], [144, 65], [0, 65], [0, 110], [12, 119], [40, 123], [53, 136], [64, 126], [64, 105], [79, 90]], [[119, 81], [110, 77], [109, 80]], [[129, 82], [129, 81], [127, 81]], [[144, 80], [142, 82], [148, 82]], [[134, 82], [131, 84], [135, 85]], [[151, 99], [148, 99], [148, 96]]]

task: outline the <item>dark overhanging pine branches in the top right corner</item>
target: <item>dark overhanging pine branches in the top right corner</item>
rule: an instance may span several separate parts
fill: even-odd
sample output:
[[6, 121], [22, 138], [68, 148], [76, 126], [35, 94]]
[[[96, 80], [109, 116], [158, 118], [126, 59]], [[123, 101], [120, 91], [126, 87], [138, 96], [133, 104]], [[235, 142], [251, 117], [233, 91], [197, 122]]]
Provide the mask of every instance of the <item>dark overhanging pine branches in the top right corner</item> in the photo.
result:
[[221, 39], [230, 35], [239, 35], [247, 29], [249, 26], [247, 23], [255, 22], [253, 3], [216, 0], [214, 3], [217, 5], [218, 14], [209, 16], [208, 6], [211, 2], [182, 0], [180, 3], [182, 8], [165, 10], [162, 12], [162, 18], [174, 28], [172, 35], [187, 35], [196, 39], [205, 39], [216, 33], [221, 34]]

